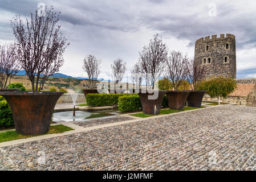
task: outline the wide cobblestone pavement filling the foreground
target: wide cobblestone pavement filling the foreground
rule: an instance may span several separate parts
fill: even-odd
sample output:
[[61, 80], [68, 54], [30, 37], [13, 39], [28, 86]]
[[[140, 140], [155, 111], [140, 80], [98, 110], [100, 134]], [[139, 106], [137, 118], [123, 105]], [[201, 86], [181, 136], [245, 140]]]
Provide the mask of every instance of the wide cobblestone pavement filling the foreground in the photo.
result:
[[224, 105], [0, 148], [0, 169], [256, 170], [256, 108]]

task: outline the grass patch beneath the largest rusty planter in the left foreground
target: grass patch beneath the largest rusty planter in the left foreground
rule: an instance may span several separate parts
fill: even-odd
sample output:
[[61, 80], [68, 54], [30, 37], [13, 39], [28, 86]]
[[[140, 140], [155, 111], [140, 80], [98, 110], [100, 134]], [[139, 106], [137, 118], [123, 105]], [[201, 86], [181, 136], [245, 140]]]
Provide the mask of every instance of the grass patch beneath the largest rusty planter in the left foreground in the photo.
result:
[[[64, 125], [55, 125], [55, 126], [50, 126], [50, 130], [46, 134], [42, 134], [42, 135], [63, 133], [64, 131], [70, 131], [70, 130], [74, 130], [74, 129], [71, 129], [71, 127], [67, 127]], [[0, 133], [0, 143], [11, 141], [11, 140], [22, 139], [22, 138], [36, 137], [36, 136], [39, 136], [39, 135], [22, 135], [17, 133], [16, 131], [6, 131], [3, 133]]]

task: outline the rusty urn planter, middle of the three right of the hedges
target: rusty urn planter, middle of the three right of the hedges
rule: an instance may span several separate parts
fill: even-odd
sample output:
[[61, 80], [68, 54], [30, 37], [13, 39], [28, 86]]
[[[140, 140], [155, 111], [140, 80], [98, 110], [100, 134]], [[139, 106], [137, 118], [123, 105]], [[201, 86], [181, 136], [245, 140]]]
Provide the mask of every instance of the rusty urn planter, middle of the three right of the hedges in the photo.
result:
[[182, 110], [184, 109], [186, 98], [191, 91], [168, 91], [166, 97], [168, 100], [169, 109]]

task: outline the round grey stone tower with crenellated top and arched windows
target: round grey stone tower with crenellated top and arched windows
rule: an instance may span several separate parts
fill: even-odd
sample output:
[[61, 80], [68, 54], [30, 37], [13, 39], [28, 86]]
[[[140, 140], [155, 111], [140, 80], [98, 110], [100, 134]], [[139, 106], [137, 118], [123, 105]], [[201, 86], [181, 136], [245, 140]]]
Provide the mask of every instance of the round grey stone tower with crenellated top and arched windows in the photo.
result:
[[196, 64], [206, 69], [206, 77], [224, 76], [236, 78], [235, 36], [221, 34], [198, 39], [194, 48]]

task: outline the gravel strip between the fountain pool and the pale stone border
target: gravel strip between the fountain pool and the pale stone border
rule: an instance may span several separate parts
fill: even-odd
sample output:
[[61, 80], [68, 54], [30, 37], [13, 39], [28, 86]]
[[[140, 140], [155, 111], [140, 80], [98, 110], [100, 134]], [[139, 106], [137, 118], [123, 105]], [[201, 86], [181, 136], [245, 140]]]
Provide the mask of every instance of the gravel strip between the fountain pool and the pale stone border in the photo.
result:
[[92, 127], [92, 126], [97, 126], [97, 125], [105, 125], [105, 124], [109, 124], [109, 123], [127, 121], [127, 120], [131, 120], [131, 119], [133, 119], [133, 118], [114, 117], [114, 118], [104, 118], [104, 119], [93, 119], [93, 120], [84, 121], [84, 122], [74, 122], [74, 124], [82, 126], [82, 127]]

